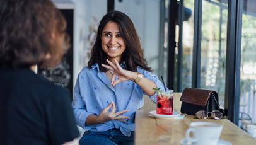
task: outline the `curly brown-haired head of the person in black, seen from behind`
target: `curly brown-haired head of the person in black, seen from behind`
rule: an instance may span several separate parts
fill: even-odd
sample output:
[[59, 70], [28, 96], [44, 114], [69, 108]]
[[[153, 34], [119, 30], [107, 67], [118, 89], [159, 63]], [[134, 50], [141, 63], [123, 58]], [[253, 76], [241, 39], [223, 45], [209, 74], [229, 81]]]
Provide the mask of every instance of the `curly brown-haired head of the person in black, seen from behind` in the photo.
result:
[[66, 20], [51, 0], [0, 1], [0, 68], [55, 67], [66, 38]]

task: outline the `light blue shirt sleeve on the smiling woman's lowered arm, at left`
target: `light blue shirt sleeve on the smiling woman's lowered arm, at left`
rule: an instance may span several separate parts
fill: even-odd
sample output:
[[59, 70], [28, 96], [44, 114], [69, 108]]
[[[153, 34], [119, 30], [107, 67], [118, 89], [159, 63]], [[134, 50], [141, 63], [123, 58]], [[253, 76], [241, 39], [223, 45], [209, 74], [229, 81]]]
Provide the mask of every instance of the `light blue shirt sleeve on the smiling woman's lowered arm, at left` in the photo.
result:
[[[81, 77], [83, 77], [83, 76], [80, 76], [80, 74], [79, 74], [78, 78], [76, 79], [76, 85], [74, 87], [74, 98], [73, 98], [73, 102], [72, 102], [72, 108], [73, 108], [73, 112], [74, 112], [74, 116], [76, 118], [77, 124], [80, 127], [82, 127], [83, 129], [89, 130], [93, 126], [85, 126], [85, 121], [86, 121], [88, 115], [91, 115], [92, 113], [87, 112], [86, 105], [81, 96], [81, 83], [80, 83]], [[84, 87], [86, 87], [86, 86], [84, 86]]]

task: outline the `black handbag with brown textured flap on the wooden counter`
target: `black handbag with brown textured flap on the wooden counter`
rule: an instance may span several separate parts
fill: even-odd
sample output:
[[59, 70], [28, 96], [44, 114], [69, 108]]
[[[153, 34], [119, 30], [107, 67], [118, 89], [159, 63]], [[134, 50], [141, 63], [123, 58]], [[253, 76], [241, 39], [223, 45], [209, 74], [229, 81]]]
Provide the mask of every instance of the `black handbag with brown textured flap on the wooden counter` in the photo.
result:
[[219, 110], [218, 93], [212, 90], [185, 88], [182, 91], [180, 101], [182, 101], [180, 112], [188, 115], [195, 115], [199, 110], [206, 112]]

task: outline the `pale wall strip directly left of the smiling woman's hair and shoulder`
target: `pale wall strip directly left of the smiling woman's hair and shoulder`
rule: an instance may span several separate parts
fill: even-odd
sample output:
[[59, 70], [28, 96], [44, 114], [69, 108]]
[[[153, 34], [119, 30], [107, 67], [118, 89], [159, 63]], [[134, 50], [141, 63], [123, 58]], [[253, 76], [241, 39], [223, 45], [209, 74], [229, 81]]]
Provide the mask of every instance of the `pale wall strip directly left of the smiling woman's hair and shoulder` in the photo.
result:
[[89, 61], [95, 30], [107, 13], [107, 0], [72, 0], [74, 9], [73, 85], [81, 69]]

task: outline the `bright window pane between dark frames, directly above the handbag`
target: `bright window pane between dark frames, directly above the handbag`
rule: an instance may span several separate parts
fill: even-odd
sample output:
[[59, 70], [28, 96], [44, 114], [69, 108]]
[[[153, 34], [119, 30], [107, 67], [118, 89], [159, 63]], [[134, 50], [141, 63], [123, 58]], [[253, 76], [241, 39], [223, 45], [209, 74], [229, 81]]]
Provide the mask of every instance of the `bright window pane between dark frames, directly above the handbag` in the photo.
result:
[[202, 1], [201, 88], [219, 93], [224, 107], [228, 9], [221, 1]]

